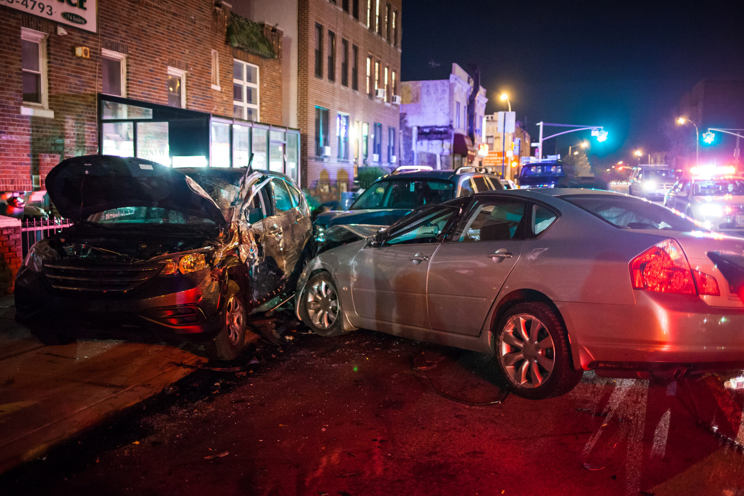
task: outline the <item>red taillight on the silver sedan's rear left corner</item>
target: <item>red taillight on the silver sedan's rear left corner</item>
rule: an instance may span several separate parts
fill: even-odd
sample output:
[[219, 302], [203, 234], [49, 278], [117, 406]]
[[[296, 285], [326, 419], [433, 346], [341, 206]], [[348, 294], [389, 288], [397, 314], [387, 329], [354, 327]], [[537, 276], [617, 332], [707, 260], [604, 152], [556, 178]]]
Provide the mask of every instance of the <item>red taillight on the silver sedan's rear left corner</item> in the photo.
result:
[[690, 263], [674, 239], [664, 239], [635, 257], [630, 263], [630, 277], [635, 289], [697, 294]]

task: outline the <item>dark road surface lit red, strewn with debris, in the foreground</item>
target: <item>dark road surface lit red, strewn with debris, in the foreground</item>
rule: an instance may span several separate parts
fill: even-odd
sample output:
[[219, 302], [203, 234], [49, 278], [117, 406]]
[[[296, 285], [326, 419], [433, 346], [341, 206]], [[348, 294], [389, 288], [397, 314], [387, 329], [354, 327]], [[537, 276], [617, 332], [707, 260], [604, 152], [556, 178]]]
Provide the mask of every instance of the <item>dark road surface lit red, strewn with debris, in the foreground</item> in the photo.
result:
[[293, 331], [282, 347], [252, 344], [237, 372], [197, 370], [0, 476], [1, 492], [744, 495], [744, 455], [727, 440], [744, 441], [744, 395], [725, 375], [586, 373], [559, 398], [504, 399], [485, 355]]

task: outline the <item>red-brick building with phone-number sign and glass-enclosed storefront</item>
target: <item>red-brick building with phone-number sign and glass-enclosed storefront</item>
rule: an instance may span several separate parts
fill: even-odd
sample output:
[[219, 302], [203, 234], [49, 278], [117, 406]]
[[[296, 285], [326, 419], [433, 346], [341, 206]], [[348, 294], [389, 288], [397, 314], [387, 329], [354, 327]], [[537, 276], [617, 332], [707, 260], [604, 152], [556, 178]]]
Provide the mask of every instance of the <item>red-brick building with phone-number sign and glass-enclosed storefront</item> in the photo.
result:
[[59, 161], [100, 152], [173, 167], [254, 152], [254, 167], [298, 178], [278, 28], [214, 0], [12, 5], [0, 5], [0, 191], [43, 190]]

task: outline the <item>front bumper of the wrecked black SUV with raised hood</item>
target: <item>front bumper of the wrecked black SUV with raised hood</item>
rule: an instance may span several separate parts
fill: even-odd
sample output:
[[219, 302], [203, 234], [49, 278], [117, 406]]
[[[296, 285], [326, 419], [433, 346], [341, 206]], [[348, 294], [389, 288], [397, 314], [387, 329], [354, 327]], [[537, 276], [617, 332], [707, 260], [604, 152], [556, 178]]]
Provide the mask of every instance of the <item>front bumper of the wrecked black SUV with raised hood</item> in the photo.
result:
[[68, 335], [204, 341], [222, 328], [219, 284], [208, 270], [150, 280], [126, 294], [60, 292], [22, 270], [15, 300], [16, 320]]

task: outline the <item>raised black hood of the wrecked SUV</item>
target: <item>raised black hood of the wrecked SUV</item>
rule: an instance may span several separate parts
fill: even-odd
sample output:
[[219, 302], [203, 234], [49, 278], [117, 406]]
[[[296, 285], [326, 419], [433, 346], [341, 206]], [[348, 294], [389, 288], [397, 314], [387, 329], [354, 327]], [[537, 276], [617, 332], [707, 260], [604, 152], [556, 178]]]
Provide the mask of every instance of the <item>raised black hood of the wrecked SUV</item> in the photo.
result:
[[73, 221], [112, 208], [157, 207], [227, 224], [214, 200], [192, 178], [142, 158], [68, 158], [49, 172], [46, 187], [57, 210]]

